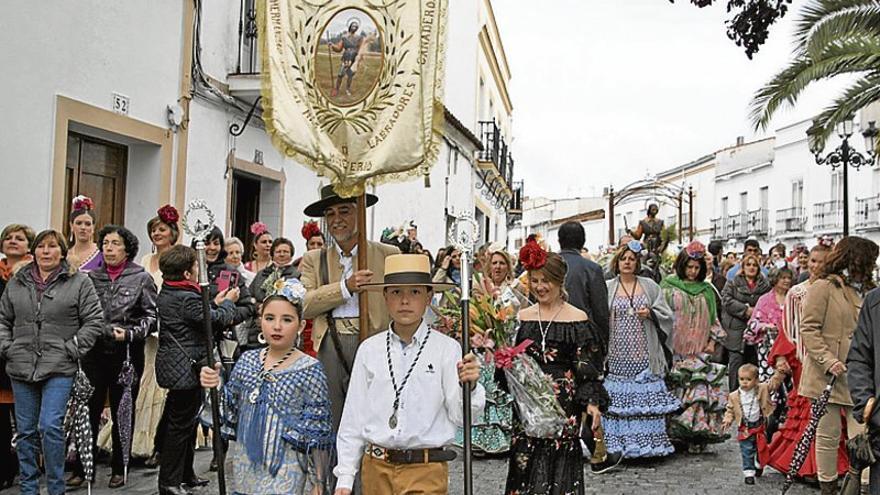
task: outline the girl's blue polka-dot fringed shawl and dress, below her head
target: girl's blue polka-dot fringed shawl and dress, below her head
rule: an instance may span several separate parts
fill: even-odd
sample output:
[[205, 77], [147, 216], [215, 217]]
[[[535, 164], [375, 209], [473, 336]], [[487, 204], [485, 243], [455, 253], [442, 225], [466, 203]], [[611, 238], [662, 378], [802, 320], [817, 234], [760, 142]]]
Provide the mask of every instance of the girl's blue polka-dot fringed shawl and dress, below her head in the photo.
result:
[[329, 490], [336, 439], [321, 363], [304, 355], [268, 379], [262, 372], [260, 350], [245, 352], [223, 387], [234, 493]]

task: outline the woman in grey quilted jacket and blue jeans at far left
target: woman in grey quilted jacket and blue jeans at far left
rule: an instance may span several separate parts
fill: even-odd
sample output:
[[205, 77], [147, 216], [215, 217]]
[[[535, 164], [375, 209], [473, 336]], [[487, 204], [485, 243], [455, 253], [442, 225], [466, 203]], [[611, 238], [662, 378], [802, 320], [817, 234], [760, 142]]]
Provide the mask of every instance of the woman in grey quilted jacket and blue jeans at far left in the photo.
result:
[[21, 493], [40, 492], [42, 456], [50, 495], [64, 493], [64, 414], [79, 360], [103, 326], [101, 302], [88, 275], [65, 261], [67, 244], [40, 232], [34, 261], [0, 298], [0, 358], [15, 392]]

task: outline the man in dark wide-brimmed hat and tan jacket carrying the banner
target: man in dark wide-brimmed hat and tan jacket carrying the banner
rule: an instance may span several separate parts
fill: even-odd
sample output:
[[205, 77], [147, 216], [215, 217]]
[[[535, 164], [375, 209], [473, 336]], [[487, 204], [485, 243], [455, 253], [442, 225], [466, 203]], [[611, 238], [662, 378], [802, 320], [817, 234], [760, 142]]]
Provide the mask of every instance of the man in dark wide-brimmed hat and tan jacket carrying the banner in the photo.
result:
[[[376, 196], [367, 195], [367, 207], [377, 201]], [[321, 199], [306, 207], [305, 214], [323, 217], [328, 233], [335, 241], [330, 246], [307, 252], [299, 268], [307, 291], [303, 317], [314, 320], [312, 342], [327, 374], [333, 429], [338, 431], [351, 366], [360, 343], [358, 294], [364, 284], [384, 277], [385, 257], [398, 254], [399, 250], [368, 241], [367, 266], [359, 267], [357, 200], [339, 197], [332, 186], [321, 189]], [[322, 262], [325, 263], [326, 277], [322, 276]], [[381, 297], [369, 299], [369, 315], [369, 335], [388, 328], [390, 317]], [[332, 335], [334, 330], [336, 338]]]

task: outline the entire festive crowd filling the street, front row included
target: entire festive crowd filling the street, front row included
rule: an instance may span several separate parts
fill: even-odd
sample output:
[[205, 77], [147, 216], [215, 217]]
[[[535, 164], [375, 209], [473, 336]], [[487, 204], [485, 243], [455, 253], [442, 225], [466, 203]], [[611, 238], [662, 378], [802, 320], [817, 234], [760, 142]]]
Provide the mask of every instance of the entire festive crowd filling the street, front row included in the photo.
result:
[[[77, 428], [90, 435], [86, 450], [109, 453], [110, 488], [126, 485], [129, 465], [158, 467], [161, 494], [205, 486], [195, 446], [219, 435], [212, 469], [228, 459], [235, 493], [446, 493], [470, 390], [473, 448], [509, 458], [506, 494], [583, 493], [586, 465], [601, 474], [625, 459], [700, 455], [734, 436], [746, 484], [797, 462], [824, 495], [849, 468], [846, 440], [873, 420], [862, 416], [880, 383], [880, 293], [870, 292], [880, 252], [867, 239], [780, 244], [766, 256], [754, 240], [742, 253], [694, 241], [669, 266], [646, 263], [665, 243], [632, 236], [597, 263], [576, 222], [560, 227], [559, 252], [536, 236], [516, 257], [480, 246], [473, 290], [515, 310], [511, 356], [549, 377], [563, 418], [536, 435], [515, 383], [487, 359], [495, 344], [474, 335], [462, 356], [440, 330], [470, 271], [461, 251], [428, 252], [412, 222], [358, 246], [357, 205], [329, 186], [304, 214], [315, 220], [300, 257], [260, 222], [247, 242], [214, 227], [207, 286], [172, 206], [145, 226], [152, 246], [141, 258], [138, 236], [99, 228], [85, 197], [72, 204], [69, 236], [6, 226], [0, 464], [17, 468], [4, 468], [0, 488], [17, 478], [37, 494], [43, 474], [53, 495], [94, 483], [92, 455], [72, 445]], [[222, 347], [213, 368], [206, 318]], [[826, 387], [828, 412], [800, 455]], [[219, 431], [200, 414], [212, 388]], [[869, 478], [880, 493], [880, 469]]]

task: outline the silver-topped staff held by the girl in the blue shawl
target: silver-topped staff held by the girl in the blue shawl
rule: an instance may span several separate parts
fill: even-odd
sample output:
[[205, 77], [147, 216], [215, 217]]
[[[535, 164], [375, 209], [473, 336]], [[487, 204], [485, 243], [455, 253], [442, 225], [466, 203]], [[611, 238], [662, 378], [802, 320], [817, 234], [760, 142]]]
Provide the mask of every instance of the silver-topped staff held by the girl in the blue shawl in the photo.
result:
[[[205, 257], [205, 239], [214, 228], [214, 213], [203, 199], [194, 199], [186, 206], [183, 215], [183, 228], [196, 241], [196, 254], [199, 264], [199, 286], [202, 288], [202, 312], [205, 320], [205, 343], [208, 351], [208, 366], [214, 368], [214, 331], [211, 328], [211, 296], [208, 282], [208, 262]], [[220, 392], [212, 388], [211, 423], [214, 427], [214, 458], [217, 459], [217, 490], [226, 495], [226, 468], [223, 452], [223, 439], [220, 437]]]

